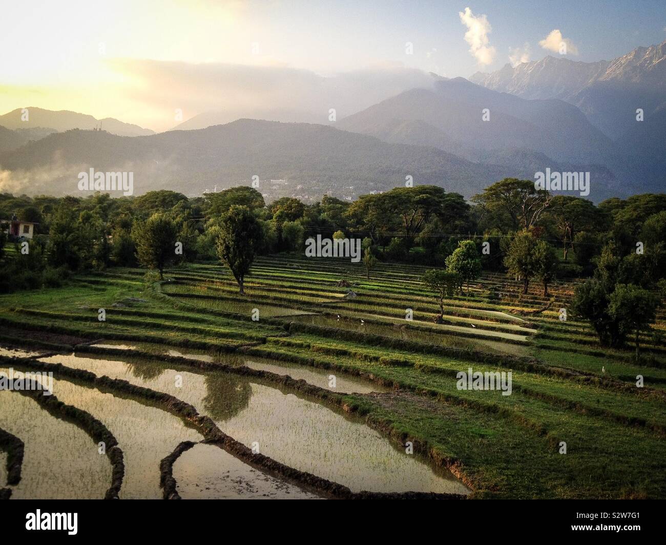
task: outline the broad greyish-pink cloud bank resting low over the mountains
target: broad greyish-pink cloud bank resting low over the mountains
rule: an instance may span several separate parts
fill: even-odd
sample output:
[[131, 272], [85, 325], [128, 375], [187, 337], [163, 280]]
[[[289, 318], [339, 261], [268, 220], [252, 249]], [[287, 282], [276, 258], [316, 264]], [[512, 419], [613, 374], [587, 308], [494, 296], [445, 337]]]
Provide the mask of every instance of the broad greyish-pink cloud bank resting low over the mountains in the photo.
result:
[[[114, 59], [113, 69], [135, 85], [123, 98], [137, 110], [161, 112], [151, 123], [171, 129], [174, 109], [183, 121], [198, 117], [187, 129], [228, 123], [241, 117], [271, 121], [328, 123], [336, 109], [338, 121], [414, 87], [431, 89], [434, 78], [424, 71], [396, 65], [323, 77], [309, 70], [287, 67], [183, 63]], [[218, 115], [208, 117], [209, 113]], [[125, 117], [131, 117], [126, 113]]]

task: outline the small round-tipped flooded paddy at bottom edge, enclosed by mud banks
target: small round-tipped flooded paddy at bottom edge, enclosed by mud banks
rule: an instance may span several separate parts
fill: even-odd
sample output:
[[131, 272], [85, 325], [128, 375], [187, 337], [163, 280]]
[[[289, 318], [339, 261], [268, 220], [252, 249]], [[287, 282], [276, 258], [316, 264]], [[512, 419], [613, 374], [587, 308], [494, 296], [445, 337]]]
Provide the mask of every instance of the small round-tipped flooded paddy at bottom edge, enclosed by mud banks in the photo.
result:
[[199, 443], [183, 452], [173, 464], [173, 476], [184, 500], [318, 498], [210, 444]]

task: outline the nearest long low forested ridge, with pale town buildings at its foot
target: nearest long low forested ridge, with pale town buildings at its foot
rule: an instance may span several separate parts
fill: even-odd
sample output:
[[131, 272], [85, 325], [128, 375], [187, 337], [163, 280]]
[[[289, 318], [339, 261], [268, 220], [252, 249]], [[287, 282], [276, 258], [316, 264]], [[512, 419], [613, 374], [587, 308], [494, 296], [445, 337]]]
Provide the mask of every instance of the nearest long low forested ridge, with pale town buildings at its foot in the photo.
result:
[[56, 133], [0, 155], [0, 191], [80, 195], [77, 174], [131, 171], [135, 195], [173, 189], [197, 195], [257, 175], [281, 180], [283, 193], [353, 198], [386, 191], [412, 176], [471, 197], [511, 175], [507, 169], [471, 163], [440, 149], [391, 144], [324, 125], [241, 119], [196, 131], [119, 137], [105, 131]]

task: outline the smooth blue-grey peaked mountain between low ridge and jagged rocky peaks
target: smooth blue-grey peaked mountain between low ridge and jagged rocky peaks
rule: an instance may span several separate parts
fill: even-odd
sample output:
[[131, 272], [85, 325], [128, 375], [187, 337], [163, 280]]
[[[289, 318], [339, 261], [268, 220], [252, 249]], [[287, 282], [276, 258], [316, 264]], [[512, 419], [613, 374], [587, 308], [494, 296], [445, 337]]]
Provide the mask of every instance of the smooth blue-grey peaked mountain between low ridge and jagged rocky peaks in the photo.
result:
[[[483, 120], [484, 109], [490, 113], [489, 121]], [[412, 128], [412, 139], [402, 139], [403, 143], [428, 143], [466, 157], [472, 157], [469, 149], [524, 148], [563, 163], [605, 165], [613, 161], [615, 153], [611, 140], [576, 107], [559, 100], [527, 101], [463, 78], [438, 81], [434, 91], [406, 91], [350, 115], [336, 126], [386, 138], [396, 121], [429, 126], [425, 131], [416, 125], [402, 127], [402, 135]], [[468, 151], [461, 151], [465, 148]]]

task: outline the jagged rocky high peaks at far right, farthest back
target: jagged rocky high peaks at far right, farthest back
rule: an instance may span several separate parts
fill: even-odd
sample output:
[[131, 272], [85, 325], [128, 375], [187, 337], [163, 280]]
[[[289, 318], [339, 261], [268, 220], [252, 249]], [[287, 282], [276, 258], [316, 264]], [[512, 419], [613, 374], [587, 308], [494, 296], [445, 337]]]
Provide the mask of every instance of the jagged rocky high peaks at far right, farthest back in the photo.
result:
[[[612, 61], [580, 63], [546, 57], [506, 65], [472, 81], [525, 98], [560, 98], [577, 106], [614, 141], [623, 177], [663, 188], [666, 167], [666, 41], [638, 47]], [[638, 110], [643, 121], [638, 121]], [[621, 171], [622, 167], [615, 167]]]

